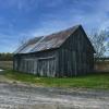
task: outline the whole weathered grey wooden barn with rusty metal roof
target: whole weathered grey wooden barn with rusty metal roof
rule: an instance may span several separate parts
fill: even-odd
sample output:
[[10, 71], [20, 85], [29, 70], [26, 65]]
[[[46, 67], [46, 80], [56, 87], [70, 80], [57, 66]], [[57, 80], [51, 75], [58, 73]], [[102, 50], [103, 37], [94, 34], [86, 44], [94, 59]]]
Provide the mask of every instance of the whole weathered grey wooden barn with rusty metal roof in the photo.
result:
[[13, 58], [16, 71], [39, 76], [76, 76], [94, 70], [94, 47], [81, 25], [22, 45]]

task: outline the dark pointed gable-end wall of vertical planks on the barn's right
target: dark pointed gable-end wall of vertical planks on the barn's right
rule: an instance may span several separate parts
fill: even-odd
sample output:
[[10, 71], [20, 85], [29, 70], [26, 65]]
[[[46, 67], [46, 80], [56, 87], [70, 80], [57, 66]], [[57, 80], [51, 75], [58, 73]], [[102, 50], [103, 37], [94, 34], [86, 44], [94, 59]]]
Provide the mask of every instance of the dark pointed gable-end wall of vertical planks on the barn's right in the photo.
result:
[[94, 51], [80, 28], [59, 50], [59, 70], [62, 76], [83, 75], [94, 70]]

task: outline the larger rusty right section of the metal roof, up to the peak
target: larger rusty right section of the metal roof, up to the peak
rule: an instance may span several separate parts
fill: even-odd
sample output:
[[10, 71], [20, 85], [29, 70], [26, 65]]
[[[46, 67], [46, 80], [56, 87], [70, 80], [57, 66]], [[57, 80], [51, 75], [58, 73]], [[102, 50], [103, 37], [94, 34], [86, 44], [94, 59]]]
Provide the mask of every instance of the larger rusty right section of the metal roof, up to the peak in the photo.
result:
[[59, 48], [66, 40], [66, 38], [76, 31], [78, 26], [80, 25], [76, 25], [69, 29], [45, 36], [36, 44], [36, 46], [31, 50], [31, 52]]

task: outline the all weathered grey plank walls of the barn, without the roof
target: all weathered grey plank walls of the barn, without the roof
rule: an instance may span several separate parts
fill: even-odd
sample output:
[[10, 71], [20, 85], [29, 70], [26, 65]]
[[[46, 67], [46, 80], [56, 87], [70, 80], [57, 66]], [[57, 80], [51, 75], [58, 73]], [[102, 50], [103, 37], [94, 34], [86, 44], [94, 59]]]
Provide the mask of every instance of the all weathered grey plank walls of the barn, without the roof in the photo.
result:
[[80, 27], [56, 50], [14, 56], [14, 70], [40, 76], [76, 76], [94, 70], [94, 49]]

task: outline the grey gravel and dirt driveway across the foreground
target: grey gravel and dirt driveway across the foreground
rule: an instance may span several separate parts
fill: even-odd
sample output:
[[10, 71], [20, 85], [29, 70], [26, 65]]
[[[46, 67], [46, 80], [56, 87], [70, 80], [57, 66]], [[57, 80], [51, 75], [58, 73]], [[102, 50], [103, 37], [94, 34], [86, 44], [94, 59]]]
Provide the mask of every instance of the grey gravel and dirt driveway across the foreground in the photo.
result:
[[109, 92], [0, 83], [0, 109], [109, 109]]

